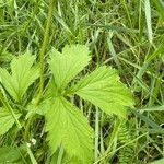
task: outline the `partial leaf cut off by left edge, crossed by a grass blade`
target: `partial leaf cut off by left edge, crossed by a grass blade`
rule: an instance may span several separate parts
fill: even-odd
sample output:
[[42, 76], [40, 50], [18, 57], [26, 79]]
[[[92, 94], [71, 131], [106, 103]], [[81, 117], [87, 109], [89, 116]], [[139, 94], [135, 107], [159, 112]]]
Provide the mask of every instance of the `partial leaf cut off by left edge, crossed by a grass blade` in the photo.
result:
[[[21, 114], [15, 114], [19, 119]], [[8, 132], [8, 130], [14, 125], [15, 120], [11, 113], [4, 108], [0, 108], [0, 136]]]

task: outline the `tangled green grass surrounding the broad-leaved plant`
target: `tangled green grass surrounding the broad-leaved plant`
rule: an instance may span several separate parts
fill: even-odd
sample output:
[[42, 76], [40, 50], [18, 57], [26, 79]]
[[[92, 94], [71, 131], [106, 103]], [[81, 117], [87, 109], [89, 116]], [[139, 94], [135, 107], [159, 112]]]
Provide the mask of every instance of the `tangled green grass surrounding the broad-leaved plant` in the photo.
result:
[[[36, 55], [37, 61], [40, 60], [48, 4], [49, 1], [46, 0], [0, 0], [2, 68], [9, 69], [13, 56], [22, 55], [27, 49]], [[47, 59], [51, 47], [61, 50], [67, 44], [84, 44], [91, 50], [92, 62], [78, 79], [98, 66], [112, 66], [118, 70], [121, 82], [131, 90], [136, 102], [134, 112], [131, 110], [128, 119], [122, 121], [81, 98], [73, 99], [95, 129], [94, 164], [144, 164], [163, 159], [164, 130], [161, 127], [164, 117], [164, 2], [56, 1], [49, 38], [43, 51], [45, 85], [49, 78]], [[26, 98], [30, 99], [32, 95], [37, 97], [38, 90], [39, 80], [30, 87]], [[44, 92], [43, 89], [40, 92]], [[44, 133], [44, 121], [40, 116], [35, 116], [30, 121], [27, 133], [37, 140], [37, 145], [28, 150], [28, 154], [32, 155], [33, 163], [37, 161], [49, 164], [50, 153]], [[19, 147], [21, 132], [15, 131], [13, 128], [1, 136], [0, 147]], [[62, 164], [62, 156], [61, 149], [52, 157], [58, 159], [57, 164]]]

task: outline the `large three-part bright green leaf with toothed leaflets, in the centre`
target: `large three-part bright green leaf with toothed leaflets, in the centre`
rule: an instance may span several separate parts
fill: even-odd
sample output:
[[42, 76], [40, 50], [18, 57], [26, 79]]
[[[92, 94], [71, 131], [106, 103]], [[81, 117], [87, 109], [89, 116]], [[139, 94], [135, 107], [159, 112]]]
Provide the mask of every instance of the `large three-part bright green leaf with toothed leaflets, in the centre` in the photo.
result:
[[[90, 59], [86, 46], [66, 46], [62, 54], [54, 49], [49, 60], [52, 78], [45, 94], [45, 102], [48, 102], [45, 107], [48, 108], [46, 131], [52, 153], [61, 147], [82, 164], [92, 163], [92, 130], [79, 109], [65, 96], [77, 94], [105, 113], [122, 117], [126, 117], [126, 106], [133, 105], [130, 92], [112, 68], [99, 67], [71, 89], [67, 87]], [[52, 104], [49, 99], [54, 101]]]

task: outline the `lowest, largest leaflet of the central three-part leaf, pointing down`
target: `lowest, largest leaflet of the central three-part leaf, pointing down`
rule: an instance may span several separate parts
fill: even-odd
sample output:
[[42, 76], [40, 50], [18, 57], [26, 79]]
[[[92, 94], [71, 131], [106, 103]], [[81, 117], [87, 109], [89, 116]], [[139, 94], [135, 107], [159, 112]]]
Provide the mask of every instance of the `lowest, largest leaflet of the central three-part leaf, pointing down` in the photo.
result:
[[63, 97], [56, 97], [48, 108], [46, 131], [52, 153], [62, 147], [70, 156], [91, 164], [93, 133], [86, 119]]

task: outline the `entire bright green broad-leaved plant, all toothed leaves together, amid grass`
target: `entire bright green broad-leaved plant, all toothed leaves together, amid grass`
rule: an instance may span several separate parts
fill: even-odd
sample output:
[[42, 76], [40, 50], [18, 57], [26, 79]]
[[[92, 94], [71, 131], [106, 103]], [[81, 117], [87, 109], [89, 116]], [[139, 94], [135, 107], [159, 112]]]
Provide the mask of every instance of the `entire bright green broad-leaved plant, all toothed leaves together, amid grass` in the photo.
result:
[[[92, 163], [94, 133], [86, 118], [71, 103], [74, 95], [118, 117], [127, 116], [126, 108], [132, 107], [133, 101], [128, 89], [119, 81], [116, 70], [110, 67], [102, 66], [81, 80], [74, 79], [89, 65], [89, 54], [87, 47], [83, 45], [65, 46], [62, 52], [55, 48], [50, 51], [49, 82], [39, 104], [33, 95], [26, 101], [28, 87], [39, 77], [34, 56], [26, 52], [15, 57], [9, 71], [0, 68], [0, 98], [3, 103], [0, 122], [9, 118], [11, 120], [1, 125], [0, 133], [4, 134], [16, 122], [22, 138], [30, 142], [33, 137], [30, 132], [31, 116], [44, 115], [51, 155], [62, 149], [74, 163]], [[25, 120], [21, 119], [25, 117]], [[62, 153], [60, 155], [62, 157]]]

